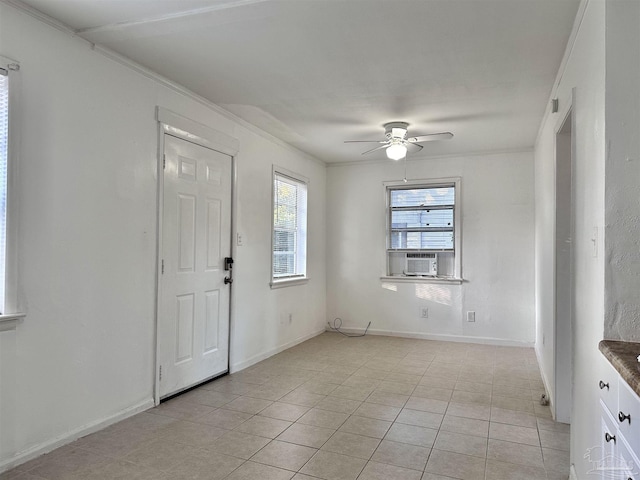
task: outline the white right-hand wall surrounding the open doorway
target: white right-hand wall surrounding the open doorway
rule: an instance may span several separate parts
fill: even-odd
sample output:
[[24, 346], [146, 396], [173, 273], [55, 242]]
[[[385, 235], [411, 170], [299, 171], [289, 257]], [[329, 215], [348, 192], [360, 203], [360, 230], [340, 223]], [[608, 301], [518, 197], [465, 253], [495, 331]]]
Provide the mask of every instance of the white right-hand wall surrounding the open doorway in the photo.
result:
[[[581, 23], [580, 23], [581, 21]], [[536, 349], [547, 386], [554, 382], [554, 256], [555, 244], [555, 133], [571, 106], [576, 89], [573, 116], [576, 136], [575, 235], [573, 239], [575, 283], [573, 305], [573, 408], [571, 413], [571, 462], [578, 478], [585, 477], [586, 449], [599, 445], [597, 366], [601, 355], [604, 316], [604, 258], [602, 238], [594, 257], [594, 228], [604, 225], [605, 175], [605, 2], [589, 1], [553, 97], [560, 112], [547, 111], [535, 149], [536, 185]], [[542, 344], [543, 335], [546, 338]], [[553, 393], [553, 392], [550, 392]]]

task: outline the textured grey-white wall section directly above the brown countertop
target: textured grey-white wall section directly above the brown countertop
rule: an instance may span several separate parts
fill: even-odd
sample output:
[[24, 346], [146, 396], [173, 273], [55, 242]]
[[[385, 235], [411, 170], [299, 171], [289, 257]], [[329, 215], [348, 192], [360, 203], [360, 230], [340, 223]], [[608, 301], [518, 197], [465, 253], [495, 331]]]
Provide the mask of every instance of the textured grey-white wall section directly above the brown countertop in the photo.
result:
[[640, 342], [640, 2], [607, 3], [604, 337]]

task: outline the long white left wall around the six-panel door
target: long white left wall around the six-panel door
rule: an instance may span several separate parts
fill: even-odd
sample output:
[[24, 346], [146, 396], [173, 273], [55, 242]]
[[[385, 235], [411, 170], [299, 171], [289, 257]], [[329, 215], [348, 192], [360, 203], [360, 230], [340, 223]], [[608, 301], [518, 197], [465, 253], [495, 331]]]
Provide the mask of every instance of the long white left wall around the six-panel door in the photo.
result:
[[[323, 329], [323, 164], [0, 3], [0, 55], [21, 63], [19, 296], [0, 334], [0, 471], [150, 405], [157, 105], [238, 138], [232, 368]], [[269, 288], [271, 168], [311, 179], [305, 286]], [[281, 325], [282, 312], [293, 313]], [[13, 382], [13, 386], [10, 383]]]

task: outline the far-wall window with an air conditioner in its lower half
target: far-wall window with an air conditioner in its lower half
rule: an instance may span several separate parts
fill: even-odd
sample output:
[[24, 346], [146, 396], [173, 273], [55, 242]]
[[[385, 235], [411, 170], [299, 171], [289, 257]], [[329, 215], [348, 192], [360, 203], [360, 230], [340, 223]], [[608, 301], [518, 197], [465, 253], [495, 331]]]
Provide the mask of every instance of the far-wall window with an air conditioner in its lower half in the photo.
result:
[[460, 180], [386, 184], [387, 274], [460, 279]]

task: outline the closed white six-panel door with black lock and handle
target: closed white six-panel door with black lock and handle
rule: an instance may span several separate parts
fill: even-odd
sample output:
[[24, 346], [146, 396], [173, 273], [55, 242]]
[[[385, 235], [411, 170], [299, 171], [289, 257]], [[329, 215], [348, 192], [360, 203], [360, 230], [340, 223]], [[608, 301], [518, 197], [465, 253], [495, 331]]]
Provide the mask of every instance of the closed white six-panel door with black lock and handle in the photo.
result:
[[228, 370], [232, 158], [165, 135], [159, 396]]

